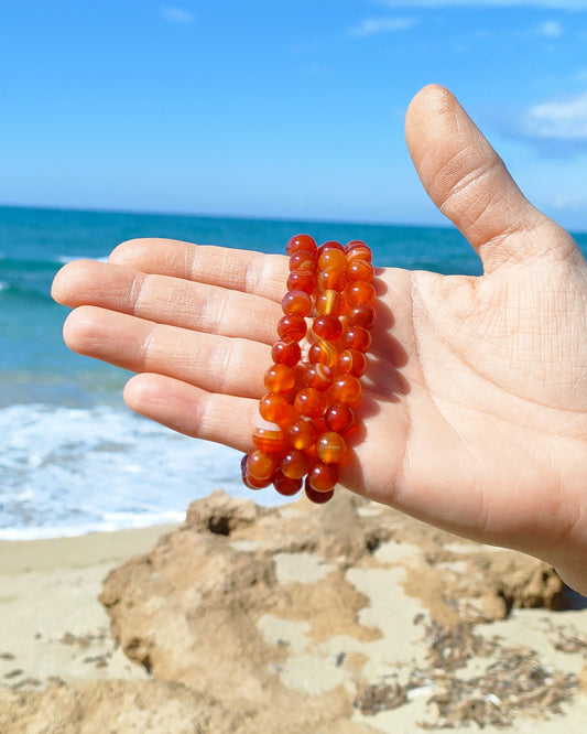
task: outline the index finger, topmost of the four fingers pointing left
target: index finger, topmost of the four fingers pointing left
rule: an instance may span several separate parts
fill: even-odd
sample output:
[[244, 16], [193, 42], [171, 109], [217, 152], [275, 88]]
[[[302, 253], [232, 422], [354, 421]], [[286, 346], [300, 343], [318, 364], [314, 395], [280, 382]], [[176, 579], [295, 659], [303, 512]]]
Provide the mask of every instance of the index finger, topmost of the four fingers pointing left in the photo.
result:
[[273, 301], [283, 298], [287, 279], [285, 256], [174, 239], [131, 239], [112, 251], [110, 262], [256, 293]]

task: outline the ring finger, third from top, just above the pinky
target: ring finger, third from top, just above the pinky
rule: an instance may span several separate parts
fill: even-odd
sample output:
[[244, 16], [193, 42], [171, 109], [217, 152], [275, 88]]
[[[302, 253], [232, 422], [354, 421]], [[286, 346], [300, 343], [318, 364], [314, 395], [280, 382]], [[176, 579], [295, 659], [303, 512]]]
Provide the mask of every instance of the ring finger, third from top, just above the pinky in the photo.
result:
[[259, 399], [270, 348], [248, 339], [189, 332], [96, 306], [64, 324], [74, 352], [133, 373], [156, 373], [214, 392]]

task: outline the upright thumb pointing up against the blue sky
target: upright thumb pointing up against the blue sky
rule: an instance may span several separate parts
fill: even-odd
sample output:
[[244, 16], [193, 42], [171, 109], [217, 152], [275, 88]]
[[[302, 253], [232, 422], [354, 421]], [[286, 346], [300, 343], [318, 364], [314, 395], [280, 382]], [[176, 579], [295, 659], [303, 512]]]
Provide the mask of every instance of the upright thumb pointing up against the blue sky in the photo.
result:
[[504, 262], [547, 252], [566, 257], [575, 250], [572, 238], [523, 196], [447, 89], [431, 85], [414, 97], [405, 138], [424, 188], [479, 253], [486, 272]]

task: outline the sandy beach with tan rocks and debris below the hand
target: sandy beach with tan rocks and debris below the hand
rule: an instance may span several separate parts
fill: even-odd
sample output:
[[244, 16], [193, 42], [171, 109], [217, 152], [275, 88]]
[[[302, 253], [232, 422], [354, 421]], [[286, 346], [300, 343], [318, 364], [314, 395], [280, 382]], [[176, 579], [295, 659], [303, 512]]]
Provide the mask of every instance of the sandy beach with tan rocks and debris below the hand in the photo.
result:
[[[105, 582], [106, 579], [106, 582]], [[540, 562], [339, 493], [0, 543], [0, 731], [580, 731], [587, 609]]]

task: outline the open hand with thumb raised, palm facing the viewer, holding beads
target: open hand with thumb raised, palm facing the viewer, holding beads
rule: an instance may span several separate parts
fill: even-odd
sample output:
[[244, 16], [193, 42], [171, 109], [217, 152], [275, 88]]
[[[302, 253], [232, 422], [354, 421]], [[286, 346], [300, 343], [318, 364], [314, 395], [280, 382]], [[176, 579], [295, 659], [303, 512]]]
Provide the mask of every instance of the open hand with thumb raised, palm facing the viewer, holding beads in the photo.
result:
[[[378, 271], [362, 430], [341, 484], [542, 558], [587, 592], [586, 262], [448, 91], [418, 93], [405, 127], [483, 276]], [[138, 373], [132, 409], [248, 451], [286, 271], [284, 256], [134, 240], [109, 263], [66, 266], [53, 294], [75, 309], [70, 348]]]

